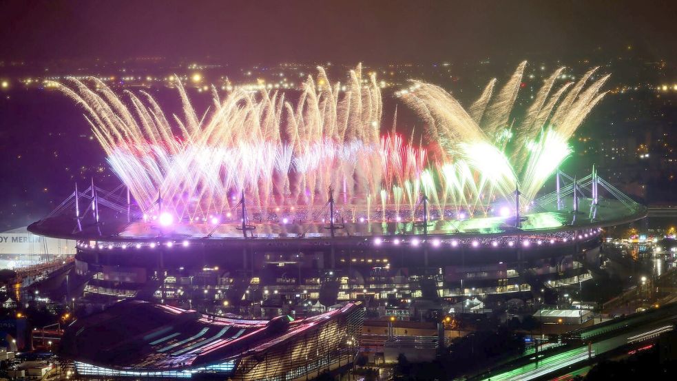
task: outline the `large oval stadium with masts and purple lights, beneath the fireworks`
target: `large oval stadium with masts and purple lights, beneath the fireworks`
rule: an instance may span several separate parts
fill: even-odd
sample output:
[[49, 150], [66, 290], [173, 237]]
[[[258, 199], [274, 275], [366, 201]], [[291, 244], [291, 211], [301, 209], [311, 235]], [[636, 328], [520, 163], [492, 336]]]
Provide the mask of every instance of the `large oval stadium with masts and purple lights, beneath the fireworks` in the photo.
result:
[[[387, 205], [371, 218], [329, 205], [331, 218], [304, 220], [300, 207], [247, 210], [242, 198], [218, 221], [169, 224], [134, 212], [124, 188], [116, 195], [92, 185], [29, 229], [77, 240], [76, 276], [90, 300], [136, 297], [253, 316], [368, 300], [406, 318], [417, 298], [512, 298], [589, 279], [603, 227], [642, 218], [646, 208], [596, 176], [567, 178], [556, 192], [516, 205], [525, 212], [515, 215], [505, 205], [464, 215], [424, 200], [406, 218]], [[78, 203], [89, 207], [76, 216]]]

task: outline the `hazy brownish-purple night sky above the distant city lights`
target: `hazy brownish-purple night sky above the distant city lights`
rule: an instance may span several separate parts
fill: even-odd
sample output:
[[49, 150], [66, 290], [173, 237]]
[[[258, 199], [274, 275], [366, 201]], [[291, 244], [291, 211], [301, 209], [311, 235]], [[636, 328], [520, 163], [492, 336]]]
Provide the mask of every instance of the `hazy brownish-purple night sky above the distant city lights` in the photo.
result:
[[674, 1], [3, 1], [2, 59], [672, 59]]

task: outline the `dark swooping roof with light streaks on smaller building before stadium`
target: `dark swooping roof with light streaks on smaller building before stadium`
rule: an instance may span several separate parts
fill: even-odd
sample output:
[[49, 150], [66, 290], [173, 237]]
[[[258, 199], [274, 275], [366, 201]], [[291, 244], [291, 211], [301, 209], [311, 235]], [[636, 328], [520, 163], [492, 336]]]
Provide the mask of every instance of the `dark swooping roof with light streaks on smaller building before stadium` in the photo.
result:
[[[318, 322], [357, 308], [348, 303], [304, 320], [238, 320], [197, 311], [123, 300], [68, 327], [60, 356], [97, 369], [116, 371], [186, 371], [233, 369], [240, 356], [284, 345], [317, 329]], [[225, 367], [228, 365], [228, 367]]]

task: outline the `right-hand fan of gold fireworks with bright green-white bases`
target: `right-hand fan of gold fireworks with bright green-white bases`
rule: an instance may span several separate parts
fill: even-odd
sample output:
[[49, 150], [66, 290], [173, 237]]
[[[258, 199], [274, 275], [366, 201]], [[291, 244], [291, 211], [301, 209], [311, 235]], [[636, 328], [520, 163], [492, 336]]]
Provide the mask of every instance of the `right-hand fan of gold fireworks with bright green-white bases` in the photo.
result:
[[496, 96], [496, 80], [490, 81], [468, 111], [429, 83], [414, 81], [399, 95], [426, 119], [430, 140], [443, 145], [442, 162], [469, 165], [479, 175], [477, 184], [490, 185], [489, 194], [505, 197], [519, 188], [532, 199], [571, 153], [567, 141], [604, 96], [600, 89], [608, 76], [585, 87], [594, 68], [578, 82], [553, 90], [560, 68], [544, 81], [525, 115], [511, 119], [525, 65], [526, 61], [517, 67]]

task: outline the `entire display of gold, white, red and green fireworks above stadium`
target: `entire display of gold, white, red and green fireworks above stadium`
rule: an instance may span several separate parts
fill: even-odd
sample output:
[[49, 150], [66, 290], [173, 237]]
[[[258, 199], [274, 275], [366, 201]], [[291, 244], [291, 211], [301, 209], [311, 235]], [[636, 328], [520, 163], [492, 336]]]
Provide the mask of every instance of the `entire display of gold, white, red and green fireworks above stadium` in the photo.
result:
[[222, 98], [213, 89], [205, 116], [178, 79], [182, 116], [166, 115], [146, 92], [126, 91], [123, 99], [96, 79], [92, 85], [69, 79], [60, 88], [84, 107], [112, 169], [143, 210], [161, 198], [156, 212], [207, 220], [233, 209], [244, 192], [249, 207], [296, 207], [312, 218], [332, 187], [353, 219], [414, 218], [423, 195], [439, 218], [460, 218], [486, 214], [516, 187], [533, 198], [603, 96], [606, 77], [585, 88], [594, 70], [552, 90], [560, 69], [525, 116], [511, 121], [524, 67], [495, 96], [492, 80], [467, 112], [435, 85], [414, 82], [400, 92], [426, 120], [430, 140], [440, 143], [431, 152], [404, 141], [394, 127], [382, 134], [381, 92], [375, 76], [363, 79], [360, 65], [346, 84], [331, 83], [318, 68], [294, 101], [282, 92], [237, 89]]

